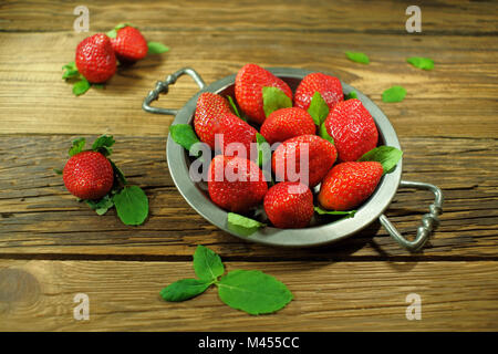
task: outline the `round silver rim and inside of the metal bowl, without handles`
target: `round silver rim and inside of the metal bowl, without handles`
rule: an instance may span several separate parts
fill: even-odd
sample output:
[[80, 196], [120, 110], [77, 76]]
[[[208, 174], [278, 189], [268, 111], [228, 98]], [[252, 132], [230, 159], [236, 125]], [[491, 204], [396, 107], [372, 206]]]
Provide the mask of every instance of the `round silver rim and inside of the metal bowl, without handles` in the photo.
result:
[[[299, 82], [312, 71], [291, 67], [268, 67], [270, 72], [286, 81], [292, 91]], [[234, 95], [235, 74], [224, 77], [199, 91], [187, 104], [178, 111], [173, 124], [190, 124], [194, 118], [197, 97], [201, 92], [214, 92], [221, 95]], [[344, 94], [355, 91], [359, 100], [372, 114], [378, 129], [378, 145], [388, 145], [401, 149], [396, 133], [384, 113], [365, 95], [356, 88], [342, 83]], [[205, 219], [218, 228], [241, 239], [272, 246], [283, 247], [312, 247], [335, 242], [359, 232], [376, 220], [388, 207], [400, 185], [402, 162], [391, 174], [384, 175], [374, 194], [357, 209], [352, 218], [335, 220], [330, 223], [312, 226], [304, 229], [261, 228], [251, 236], [241, 236], [227, 226], [227, 211], [217, 207], [208, 197], [201, 183], [194, 183], [189, 178], [190, 157], [183, 147], [168, 136], [167, 162], [169, 173], [175, 185], [187, 202]]]

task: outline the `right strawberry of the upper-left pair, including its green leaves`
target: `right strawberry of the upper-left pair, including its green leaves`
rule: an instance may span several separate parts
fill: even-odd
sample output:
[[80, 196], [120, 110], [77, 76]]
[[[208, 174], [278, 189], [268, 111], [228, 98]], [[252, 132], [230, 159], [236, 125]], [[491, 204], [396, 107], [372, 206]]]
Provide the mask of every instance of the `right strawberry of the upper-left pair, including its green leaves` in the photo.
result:
[[106, 34], [111, 39], [117, 60], [123, 64], [132, 64], [147, 54], [159, 54], [169, 50], [160, 43], [147, 43], [141, 31], [128, 23], [121, 23]]

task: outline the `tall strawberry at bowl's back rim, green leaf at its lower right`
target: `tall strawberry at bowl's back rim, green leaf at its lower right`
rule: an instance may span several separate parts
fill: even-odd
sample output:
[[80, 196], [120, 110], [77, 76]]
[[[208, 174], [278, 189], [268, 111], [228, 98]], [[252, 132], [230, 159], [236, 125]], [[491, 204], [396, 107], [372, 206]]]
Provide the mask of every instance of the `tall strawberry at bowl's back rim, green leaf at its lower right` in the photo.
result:
[[235, 84], [237, 103], [258, 124], [262, 124], [266, 118], [262, 87], [278, 87], [292, 100], [292, 91], [286, 82], [256, 64], [246, 64], [240, 69]]

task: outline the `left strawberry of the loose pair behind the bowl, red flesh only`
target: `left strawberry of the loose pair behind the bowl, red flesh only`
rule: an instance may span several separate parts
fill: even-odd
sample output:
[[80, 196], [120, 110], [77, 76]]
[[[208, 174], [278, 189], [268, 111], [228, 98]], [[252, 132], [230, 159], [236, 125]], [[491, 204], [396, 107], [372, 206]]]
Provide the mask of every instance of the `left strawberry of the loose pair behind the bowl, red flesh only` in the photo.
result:
[[116, 72], [116, 55], [107, 35], [97, 33], [81, 41], [75, 63], [77, 71], [92, 83], [110, 80]]

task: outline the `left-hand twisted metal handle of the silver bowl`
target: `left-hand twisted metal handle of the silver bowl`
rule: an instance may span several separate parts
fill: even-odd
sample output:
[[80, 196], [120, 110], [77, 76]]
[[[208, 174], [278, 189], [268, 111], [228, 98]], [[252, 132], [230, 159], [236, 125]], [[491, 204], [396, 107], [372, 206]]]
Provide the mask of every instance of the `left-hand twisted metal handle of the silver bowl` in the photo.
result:
[[145, 112], [149, 113], [176, 115], [178, 113], [178, 110], [153, 107], [151, 106], [151, 103], [155, 100], [158, 100], [159, 94], [168, 93], [169, 85], [173, 85], [179, 76], [183, 76], [185, 74], [190, 76], [196, 82], [196, 84], [199, 85], [200, 90], [206, 87], [206, 83], [204, 82], [203, 77], [200, 77], [200, 75], [194, 69], [184, 67], [178, 70], [176, 73], [168, 75], [165, 81], [156, 82], [156, 87], [151, 91], [145, 97], [144, 102], [142, 103], [142, 108]]

